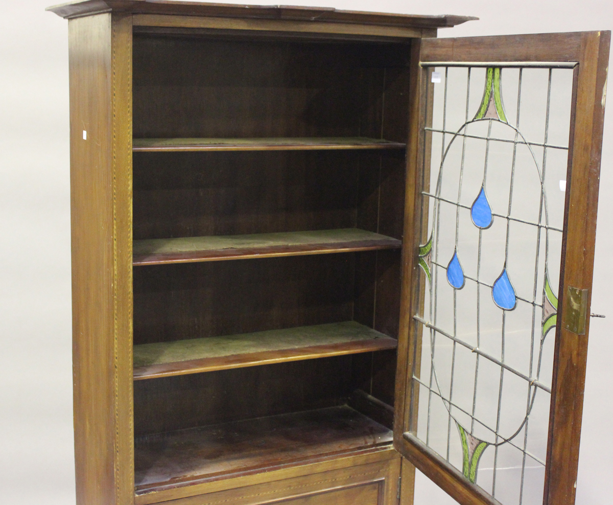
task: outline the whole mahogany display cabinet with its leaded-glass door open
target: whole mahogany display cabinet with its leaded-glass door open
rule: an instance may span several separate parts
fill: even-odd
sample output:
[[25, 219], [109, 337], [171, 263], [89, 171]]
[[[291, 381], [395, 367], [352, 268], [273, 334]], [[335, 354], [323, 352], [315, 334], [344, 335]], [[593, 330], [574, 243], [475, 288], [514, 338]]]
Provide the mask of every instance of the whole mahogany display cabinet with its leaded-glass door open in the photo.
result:
[[78, 505], [574, 503], [609, 32], [50, 10]]

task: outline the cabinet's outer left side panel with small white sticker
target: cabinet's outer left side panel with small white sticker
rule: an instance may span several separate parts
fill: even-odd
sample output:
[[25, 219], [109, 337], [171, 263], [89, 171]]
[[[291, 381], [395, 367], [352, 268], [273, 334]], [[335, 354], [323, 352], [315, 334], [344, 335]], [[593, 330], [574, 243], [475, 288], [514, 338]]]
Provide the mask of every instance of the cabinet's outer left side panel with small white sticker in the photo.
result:
[[75, 469], [79, 505], [115, 503], [111, 17], [69, 22]]

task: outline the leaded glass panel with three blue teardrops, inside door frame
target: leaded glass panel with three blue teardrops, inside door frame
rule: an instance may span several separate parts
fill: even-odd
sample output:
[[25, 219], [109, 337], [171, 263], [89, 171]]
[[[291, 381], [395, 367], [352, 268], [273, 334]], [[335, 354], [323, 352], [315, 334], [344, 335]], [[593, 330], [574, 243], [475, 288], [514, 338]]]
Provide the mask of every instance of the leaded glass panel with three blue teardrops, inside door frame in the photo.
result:
[[541, 503], [573, 71], [435, 70], [412, 430], [504, 505]]

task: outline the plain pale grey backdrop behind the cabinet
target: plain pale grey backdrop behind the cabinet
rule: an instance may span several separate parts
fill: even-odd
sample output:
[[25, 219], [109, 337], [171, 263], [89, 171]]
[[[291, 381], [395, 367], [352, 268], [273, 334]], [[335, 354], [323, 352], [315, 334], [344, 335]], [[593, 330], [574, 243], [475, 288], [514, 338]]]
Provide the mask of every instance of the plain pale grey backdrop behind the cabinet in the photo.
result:
[[[0, 503], [74, 504], [67, 23], [50, 0], [0, 4]], [[239, 2], [234, 2], [239, 3]], [[242, 2], [241, 2], [242, 3]], [[269, 2], [262, 2], [268, 4]], [[292, 3], [292, 2], [289, 2]], [[474, 15], [441, 37], [613, 28], [609, 1], [306, 0]], [[607, 111], [577, 504], [613, 496], [613, 112]], [[416, 505], [454, 503], [423, 476]]]

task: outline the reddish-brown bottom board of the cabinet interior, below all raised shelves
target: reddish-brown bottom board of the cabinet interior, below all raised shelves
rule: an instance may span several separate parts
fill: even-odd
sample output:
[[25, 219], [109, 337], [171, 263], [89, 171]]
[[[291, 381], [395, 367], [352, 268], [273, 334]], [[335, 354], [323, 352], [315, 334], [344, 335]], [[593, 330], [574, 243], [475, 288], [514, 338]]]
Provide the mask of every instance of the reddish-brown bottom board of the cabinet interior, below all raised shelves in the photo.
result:
[[143, 436], [134, 441], [135, 490], [143, 495], [390, 442], [392, 431], [347, 406]]

